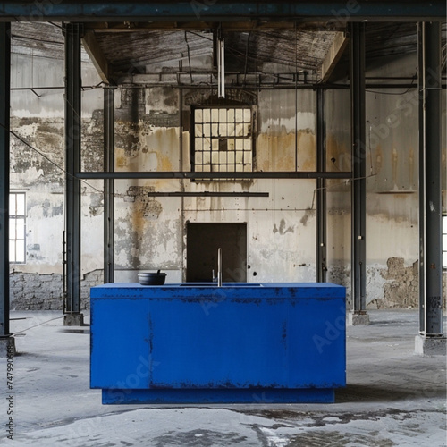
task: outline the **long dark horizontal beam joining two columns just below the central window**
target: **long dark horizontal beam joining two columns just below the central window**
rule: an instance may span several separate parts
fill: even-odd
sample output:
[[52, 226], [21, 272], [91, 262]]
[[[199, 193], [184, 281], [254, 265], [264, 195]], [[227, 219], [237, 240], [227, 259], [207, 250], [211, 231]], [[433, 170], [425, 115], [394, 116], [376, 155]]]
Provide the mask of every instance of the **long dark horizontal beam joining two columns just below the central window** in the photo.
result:
[[316, 173], [314, 171], [281, 171], [281, 172], [250, 172], [250, 173], [191, 173], [188, 172], [147, 172], [147, 173], [77, 173], [76, 178], [82, 180], [131, 180], [131, 179], [350, 179], [350, 172]]

